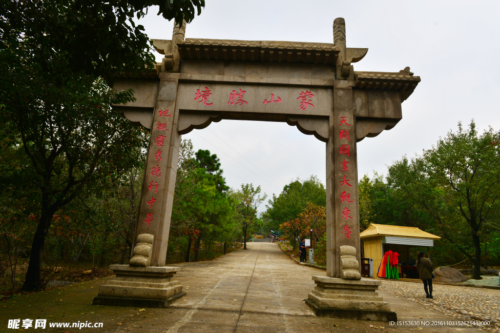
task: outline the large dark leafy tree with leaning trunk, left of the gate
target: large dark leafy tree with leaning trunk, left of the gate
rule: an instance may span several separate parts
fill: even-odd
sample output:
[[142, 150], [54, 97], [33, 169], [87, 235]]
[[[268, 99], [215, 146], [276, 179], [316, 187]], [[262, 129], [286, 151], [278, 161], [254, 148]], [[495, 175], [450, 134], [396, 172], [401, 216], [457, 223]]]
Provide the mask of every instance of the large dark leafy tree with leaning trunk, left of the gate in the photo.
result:
[[182, 22], [193, 18], [194, 6], [199, 14], [204, 1], [7, 0], [0, 6], [2, 135], [26, 157], [1, 190], [38, 206], [25, 290], [40, 288], [40, 255], [54, 214], [81, 191], [99, 192], [102, 177], [143, 157], [147, 133], [111, 108], [132, 101], [133, 91], [111, 91], [101, 77], [154, 70], [151, 43], [133, 21], [151, 5]]

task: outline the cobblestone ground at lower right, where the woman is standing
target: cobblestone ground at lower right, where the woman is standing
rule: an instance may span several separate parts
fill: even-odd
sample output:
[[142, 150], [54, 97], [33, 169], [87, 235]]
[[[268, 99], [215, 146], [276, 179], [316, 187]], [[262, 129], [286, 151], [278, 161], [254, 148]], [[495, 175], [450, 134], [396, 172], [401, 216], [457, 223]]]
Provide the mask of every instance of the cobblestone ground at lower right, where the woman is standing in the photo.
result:
[[500, 290], [461, 286], [432, 286], [433, 300], [425, 298], [423, 284], [403, 281], [382, 281], [380, 290], [404, 297], [444, 315], [463, 321], [489, 321], [488, 332], [500, 332]]

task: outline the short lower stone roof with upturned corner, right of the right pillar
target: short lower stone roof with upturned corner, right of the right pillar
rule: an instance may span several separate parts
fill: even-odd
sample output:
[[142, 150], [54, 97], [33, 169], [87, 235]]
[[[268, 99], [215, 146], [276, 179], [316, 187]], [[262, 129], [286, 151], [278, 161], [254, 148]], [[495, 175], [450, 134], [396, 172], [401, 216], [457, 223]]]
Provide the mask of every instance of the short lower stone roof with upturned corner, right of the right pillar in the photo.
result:
[[357, 88], [400, 91], [401, 102], [411, 95], [420, 82], [420, 76], [413, 76], [413, 73], [405, 70], [398, 73], [354, 71], [354, 79]]

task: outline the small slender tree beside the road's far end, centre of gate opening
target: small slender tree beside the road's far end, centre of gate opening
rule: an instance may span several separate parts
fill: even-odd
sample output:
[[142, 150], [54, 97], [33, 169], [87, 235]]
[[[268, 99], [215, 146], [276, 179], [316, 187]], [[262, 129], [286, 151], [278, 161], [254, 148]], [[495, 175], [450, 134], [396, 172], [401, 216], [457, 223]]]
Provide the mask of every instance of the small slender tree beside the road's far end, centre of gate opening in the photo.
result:
[[248, 227], [257, 222], [257, 207], [267, 197], [259, 195], [260, 186], [253, 188], [253, 184], [241, 184], [241, 190], [233, 193], [236, 200], [236, 211], [240, 217], [241, 231], [243, 232], [243, 249], [246, 250], [246, 236]]

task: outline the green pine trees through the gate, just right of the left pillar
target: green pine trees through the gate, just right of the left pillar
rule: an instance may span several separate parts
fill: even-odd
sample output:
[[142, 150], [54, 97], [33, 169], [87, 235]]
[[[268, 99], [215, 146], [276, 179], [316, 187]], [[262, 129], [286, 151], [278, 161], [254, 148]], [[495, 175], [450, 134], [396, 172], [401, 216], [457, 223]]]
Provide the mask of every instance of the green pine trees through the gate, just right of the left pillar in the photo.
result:
[[[198, 261], [201, 240], [226, 242], [234, 233], [235, 205], [225, 185], [217, 155], [208, 150], [192, 150], [190, 140], [182, 140], [175, 182], [175, 195], [170, 223], [170, 249], [185, 246], [186, 262]], [[194, 246], [193, 246], [194, 245]]]

